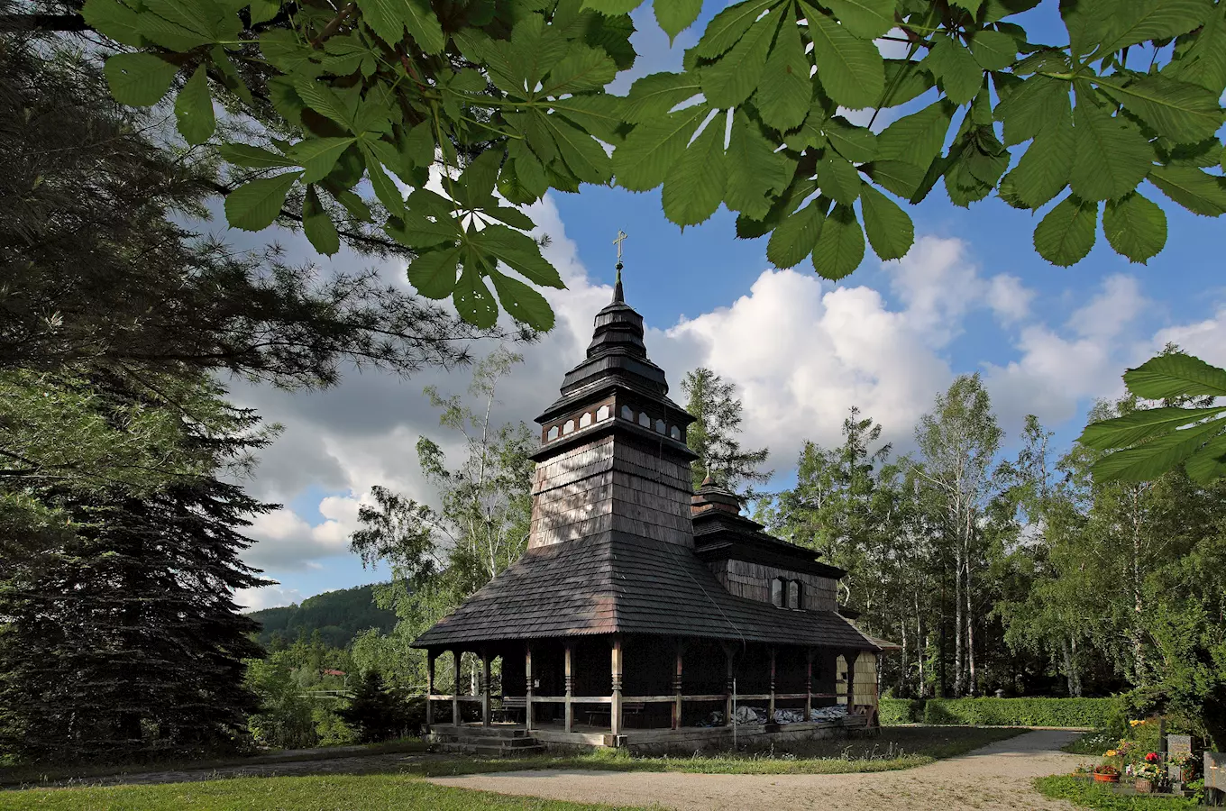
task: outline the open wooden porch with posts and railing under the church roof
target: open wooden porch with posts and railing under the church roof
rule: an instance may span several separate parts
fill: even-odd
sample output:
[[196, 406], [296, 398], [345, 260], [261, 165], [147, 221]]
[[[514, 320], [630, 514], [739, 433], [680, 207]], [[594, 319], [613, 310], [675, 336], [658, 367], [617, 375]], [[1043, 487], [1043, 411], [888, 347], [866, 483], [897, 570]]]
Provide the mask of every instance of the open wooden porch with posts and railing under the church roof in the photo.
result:
[[[479, 662], [476, 677], [435, 692], [436, 663], [445, 657], [459, 674], [465, 653]], [[557, 745], [702, 747], [875, 726], [877, 717], [875, 651], [852, 647], [580, 635], [428, 648], [427, 680], [433, 733]], [[846, 714], [826, 709], [839, 707]]]

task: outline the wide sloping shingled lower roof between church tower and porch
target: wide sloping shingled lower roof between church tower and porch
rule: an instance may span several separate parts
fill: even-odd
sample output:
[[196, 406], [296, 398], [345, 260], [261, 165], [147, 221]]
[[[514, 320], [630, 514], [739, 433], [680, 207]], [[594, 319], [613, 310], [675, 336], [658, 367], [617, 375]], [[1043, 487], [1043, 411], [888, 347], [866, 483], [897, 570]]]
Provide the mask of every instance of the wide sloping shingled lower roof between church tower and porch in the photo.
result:
[[878, 649], [832, 611], [729, 594], [691, 549], [622, 532], [528, 550], [413, 646], [596, 633]]

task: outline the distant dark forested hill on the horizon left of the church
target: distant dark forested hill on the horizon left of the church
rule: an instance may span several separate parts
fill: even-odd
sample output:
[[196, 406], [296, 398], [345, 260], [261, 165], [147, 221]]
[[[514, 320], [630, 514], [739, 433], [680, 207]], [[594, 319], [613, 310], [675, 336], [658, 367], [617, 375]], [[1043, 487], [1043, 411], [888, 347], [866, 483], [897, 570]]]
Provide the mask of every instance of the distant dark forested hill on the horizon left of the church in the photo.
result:
[[387, 633], [396, 625], [394, 611], [375, 605], [374, 586], [324, 592], [303, 600], [300, 605], [264, 609], [248, 616], [264, 626], [259, 639], [265, 646], [278, 632], [286, 642], [293, 642], [299, 633], [310, 638], [318, 630], [325, 644], [343, 648], [367, 628]]

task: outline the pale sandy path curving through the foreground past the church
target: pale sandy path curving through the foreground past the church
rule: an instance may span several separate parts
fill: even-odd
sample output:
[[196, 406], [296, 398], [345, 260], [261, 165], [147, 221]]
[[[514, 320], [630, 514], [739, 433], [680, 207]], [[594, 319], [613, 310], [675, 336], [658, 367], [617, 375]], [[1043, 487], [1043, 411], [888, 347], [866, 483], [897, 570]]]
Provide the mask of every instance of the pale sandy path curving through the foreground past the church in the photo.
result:
[[961, 757], [875, 774], [683, 774], [651, 772], [503, 772], [435, 778], [439, 785], [554, 800], [707, 809], [821, 811], [1069, 811], [1030, 782], [1068, 772], [1081, 760], [1058, 751], [1079, 733], [1038, 730]]

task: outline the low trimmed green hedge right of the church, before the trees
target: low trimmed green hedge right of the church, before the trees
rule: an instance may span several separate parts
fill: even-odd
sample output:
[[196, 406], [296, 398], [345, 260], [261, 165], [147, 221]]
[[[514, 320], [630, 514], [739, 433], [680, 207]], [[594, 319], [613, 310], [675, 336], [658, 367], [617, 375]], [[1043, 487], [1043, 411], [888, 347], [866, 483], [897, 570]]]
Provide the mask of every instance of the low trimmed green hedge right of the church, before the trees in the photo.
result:
[[1114, 698], [883, 698], [881, 724], [1106, 726]]

